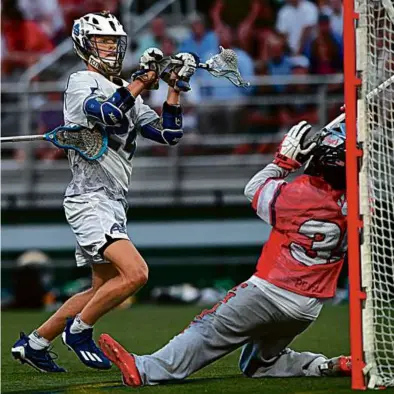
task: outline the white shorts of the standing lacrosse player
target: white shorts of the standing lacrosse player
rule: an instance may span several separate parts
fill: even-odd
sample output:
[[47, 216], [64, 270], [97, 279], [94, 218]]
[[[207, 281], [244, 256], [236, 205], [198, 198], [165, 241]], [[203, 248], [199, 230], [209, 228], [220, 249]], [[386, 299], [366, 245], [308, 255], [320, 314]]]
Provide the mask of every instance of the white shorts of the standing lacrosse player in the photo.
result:
[[129, 239], [126, 202], [111, 200], [104, 191], [97, 191], [66, 197], [63, 206], [77, 239], [77, 266], [107, 263], [102, 248], [111, 240]]

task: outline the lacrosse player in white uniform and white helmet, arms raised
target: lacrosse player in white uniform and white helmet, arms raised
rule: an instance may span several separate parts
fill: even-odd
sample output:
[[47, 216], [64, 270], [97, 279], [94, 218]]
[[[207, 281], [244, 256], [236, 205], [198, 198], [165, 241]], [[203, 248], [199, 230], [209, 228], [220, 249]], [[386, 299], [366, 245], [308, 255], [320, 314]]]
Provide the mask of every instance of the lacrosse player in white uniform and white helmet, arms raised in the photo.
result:
[[159, 117], [139, 96], [155, 87], [164, 71], [159, 49], [149, 48], [143, 53], [140, 69], [128, 83], [119, 77], [127, 34], [115, 16], [109, 12], [83, 16], [74, 22], [72, 40], [87, 70], [69, 77], [64, 94], [65, 124], [102, 128], [109, 148], [96, 161], [68, 152], [73, 178], [66, 190], [64, 209], [77, 240], [77, 265], [91, 266], [92, 287], [70, 298], [29, 336], [21, 333], [14, 344], [12, 355], [16, 359], [43, 372], [65, 372], [49, 351], [51, 341], [60, 334], [64, 344], [88, 367], [111, 367], [93, 341], [93, 325], [148, 280], [147, 264], [126, 228], [126, 194], [136, 138], [140, 134], [167, 145], [180, 140], [180, 91], [189, 89], [188, 81], [198, 61], [189, 53], [176, 55], [183, 65], [167, 72], [168, 94]]

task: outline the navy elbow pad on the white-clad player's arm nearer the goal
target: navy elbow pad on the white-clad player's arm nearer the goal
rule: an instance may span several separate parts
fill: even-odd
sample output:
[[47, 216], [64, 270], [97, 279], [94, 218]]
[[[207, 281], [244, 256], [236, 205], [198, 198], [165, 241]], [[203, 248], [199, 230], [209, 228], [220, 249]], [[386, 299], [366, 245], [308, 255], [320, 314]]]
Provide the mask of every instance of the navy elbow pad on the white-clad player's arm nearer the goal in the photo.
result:
[[181, 107], [165, 102], [161, 119], [142, 126], [141, 135], [160, 144], [176, 145], [183, 136]]

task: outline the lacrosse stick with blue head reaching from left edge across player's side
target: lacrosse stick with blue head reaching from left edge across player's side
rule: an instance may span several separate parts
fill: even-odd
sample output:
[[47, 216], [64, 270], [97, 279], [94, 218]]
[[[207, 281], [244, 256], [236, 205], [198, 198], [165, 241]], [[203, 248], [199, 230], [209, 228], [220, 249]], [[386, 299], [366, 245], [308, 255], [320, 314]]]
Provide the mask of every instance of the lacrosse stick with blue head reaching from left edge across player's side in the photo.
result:
[[107, 135], [99, 128], [87, 129], [82, 126], [59, 126], [42, 135], [2, 137], [0, 142], [49, 141], [62, 149], [72, 149], [86, 160], [97, 160], [108, 146]]

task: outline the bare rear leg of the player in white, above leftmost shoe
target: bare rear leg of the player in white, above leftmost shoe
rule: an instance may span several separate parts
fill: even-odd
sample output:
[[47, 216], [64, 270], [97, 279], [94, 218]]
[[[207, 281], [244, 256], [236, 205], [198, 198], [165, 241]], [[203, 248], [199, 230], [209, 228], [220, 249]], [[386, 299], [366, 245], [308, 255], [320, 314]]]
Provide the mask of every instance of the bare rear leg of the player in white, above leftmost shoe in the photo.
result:
[[97, 290], [108, 280], [118, 274], [116, 268], [111, 264], [94, 264], [92, 265], [92, 287], [82, 293], [75, 294], [69, 298], [45, 323], [37, 330], [37, 334], [46, 339], [53, 341], [60, 335], [66, 327], [68, 317], [74, 317], [92, 299]]

